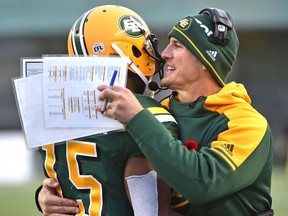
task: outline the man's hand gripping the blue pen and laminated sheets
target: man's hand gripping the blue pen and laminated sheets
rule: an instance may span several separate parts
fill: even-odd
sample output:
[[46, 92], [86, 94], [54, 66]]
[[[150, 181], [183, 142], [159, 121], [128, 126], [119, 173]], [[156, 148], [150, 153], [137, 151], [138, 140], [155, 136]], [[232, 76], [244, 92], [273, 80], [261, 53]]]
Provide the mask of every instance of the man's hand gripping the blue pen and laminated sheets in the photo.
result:
[[[113, 86], [111, 89], [105, 85], [100, 85], [98, 86], [98, 90], [101, 91], [100, 100], [110, 100], [103, 114], [104, 116], [116, 119], [122, 124], [127, 124], [135, 115], [143, 110], [137, 98], [127, 88]], [[100, 107], [97, 107], [97, 110], [99, 109]]]

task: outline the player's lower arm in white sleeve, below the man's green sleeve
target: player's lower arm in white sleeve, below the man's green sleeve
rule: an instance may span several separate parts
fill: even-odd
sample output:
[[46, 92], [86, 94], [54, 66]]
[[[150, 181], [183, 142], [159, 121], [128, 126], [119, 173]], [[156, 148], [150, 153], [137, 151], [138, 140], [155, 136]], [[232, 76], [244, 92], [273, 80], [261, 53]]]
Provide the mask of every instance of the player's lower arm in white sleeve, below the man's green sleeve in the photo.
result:
[[[125, 167], [125, 189], [136, 212], [158, 216], [181, 216], [170, 208], [171, 189], [143, 157], [129, 158]], [[158, 198], [158, 207], [157, 207]]]

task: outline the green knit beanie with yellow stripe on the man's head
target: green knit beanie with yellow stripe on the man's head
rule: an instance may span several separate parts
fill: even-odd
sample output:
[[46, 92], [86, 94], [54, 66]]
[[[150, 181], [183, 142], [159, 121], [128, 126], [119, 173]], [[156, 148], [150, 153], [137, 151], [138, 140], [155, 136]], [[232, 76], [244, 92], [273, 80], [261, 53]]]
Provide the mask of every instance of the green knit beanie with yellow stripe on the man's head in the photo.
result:
[[181, 19], [169, 32], [186, 46], [223, 87], [236, 60], [239, 40], [234, 28], [228, 30], [228, 44], [220, 45], [209, 41], [213, 34], [213, 23], [208, 14], [187, 16]]

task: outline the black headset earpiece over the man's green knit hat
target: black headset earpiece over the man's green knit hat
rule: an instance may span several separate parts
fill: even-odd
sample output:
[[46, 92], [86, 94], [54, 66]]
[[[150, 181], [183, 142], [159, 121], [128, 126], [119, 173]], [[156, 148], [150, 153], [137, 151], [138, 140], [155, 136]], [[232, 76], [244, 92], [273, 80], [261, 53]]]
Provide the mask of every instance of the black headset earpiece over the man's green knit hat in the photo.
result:
[[230, 14], [217, 8], [205, 8], [199, 14], [208, 14], [212, 19], [213, 35], [209, 36], [209, 41], [222, 46], [228, 44], [227, 32], [233, 28]]

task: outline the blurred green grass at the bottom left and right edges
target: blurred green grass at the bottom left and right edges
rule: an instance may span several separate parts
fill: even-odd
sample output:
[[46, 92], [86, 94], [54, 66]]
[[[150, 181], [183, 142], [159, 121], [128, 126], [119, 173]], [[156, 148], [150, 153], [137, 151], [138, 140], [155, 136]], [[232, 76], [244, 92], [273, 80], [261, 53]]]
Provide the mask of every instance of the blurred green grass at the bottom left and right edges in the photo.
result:
[[[34, 204], [34, 191], [41, 180], [25, 185], [0, 185], [1, 214], [3, 216], [41, 215]], [[273, 208], [277, 216], [288, 215], [288, 172], [275, 168], [272, 179]]]

